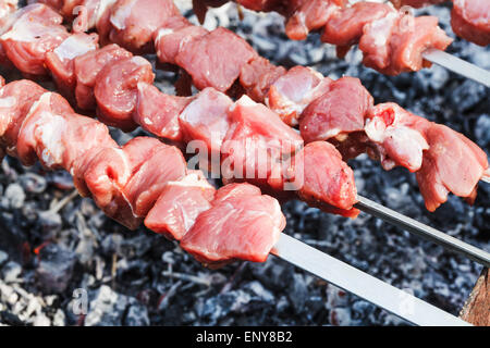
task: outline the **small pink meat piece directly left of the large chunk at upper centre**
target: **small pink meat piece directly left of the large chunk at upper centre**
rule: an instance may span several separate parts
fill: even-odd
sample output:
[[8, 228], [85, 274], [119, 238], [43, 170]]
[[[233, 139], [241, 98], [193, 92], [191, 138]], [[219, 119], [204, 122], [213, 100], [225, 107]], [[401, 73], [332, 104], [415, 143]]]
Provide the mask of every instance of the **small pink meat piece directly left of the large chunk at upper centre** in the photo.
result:
[[154, 35], [158, 60], [161, 63], [175, 64], [175, 57], [186, 44], [208, 33], [204, 27], [192, 25], [182, 16], [170, 18]]

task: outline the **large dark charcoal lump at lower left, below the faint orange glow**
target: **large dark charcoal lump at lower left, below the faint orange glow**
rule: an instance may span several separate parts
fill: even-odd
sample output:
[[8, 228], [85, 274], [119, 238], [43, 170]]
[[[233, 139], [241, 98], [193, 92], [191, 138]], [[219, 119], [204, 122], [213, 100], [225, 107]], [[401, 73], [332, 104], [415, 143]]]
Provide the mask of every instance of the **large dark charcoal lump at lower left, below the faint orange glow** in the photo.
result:
[[44, 247], [36, 269], [42, 290], [47, 294], [63, 293], [73, 276], [75, 261], [75, 253], [58, 244]]

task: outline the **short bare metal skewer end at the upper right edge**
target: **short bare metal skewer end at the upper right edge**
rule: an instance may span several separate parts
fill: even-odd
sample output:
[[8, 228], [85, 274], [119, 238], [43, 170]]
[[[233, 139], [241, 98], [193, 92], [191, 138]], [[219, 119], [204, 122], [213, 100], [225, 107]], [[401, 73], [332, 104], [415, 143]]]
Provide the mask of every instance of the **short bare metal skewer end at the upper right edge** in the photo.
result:
[[428, 49], [422, 53], [422, 55], [426, 60], [432, 63], [439, 64], [456, 74], [476, 80], [486, 87], [490, 87], [490, 72], [485, 69], [438, 49]]

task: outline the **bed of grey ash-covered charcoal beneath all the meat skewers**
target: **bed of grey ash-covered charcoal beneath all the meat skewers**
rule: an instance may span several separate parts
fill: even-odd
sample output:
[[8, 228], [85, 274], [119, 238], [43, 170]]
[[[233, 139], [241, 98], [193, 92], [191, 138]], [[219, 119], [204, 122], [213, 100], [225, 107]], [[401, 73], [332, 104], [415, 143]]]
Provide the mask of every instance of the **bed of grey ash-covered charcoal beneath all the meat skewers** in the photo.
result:
[[[191, 1], [180, 1], [192, 21]], [[450, 10], [438, 15], [451, 33]], [[420, 11], [420, 12], [424, 12]], [[377, 102], [395, 101], [462, 132], [490, 153], [490, 100], [482, 86], [433, 66], [397, 77], [345, 60], [313, 35], [284, 36], [279, 15], [234, 5], [212, 10], [206, 26], [226, 26], [275, 63], [310, 65], [338, 78], [359, 77]], [[452, 33], [451, 33], [452, 34]], [[451, 53], [490, 69], [490, 50], [456, 39]], [[158, 86], [173, 92], [174, 74], [158, 71]], [[128, 135], [114, 130], [120, 142]], [[451, 197], [436, 213], [424, 208], [415, 176], [383, 171], [367, 157], [350, 164], [359, 192], [406, 215], [490, 250], [490, 186], [474, 207]], [[4, 325], [383, 325], [404, 323], [375, 306], [275, 258], [210, 271], [174, 243], [144, 228], [128, 232], [88, 199], [73, 194], [60, 173], [25, 169], [7, 159], [0, 171], [0, 323]], [[286, 233], [396, 287], [457, 314], [481, 271], [389, 224], [362, 214], [328, 215], [301, 202], [283, 206]], [[84, 314], [86, 310], [86, 315]]]

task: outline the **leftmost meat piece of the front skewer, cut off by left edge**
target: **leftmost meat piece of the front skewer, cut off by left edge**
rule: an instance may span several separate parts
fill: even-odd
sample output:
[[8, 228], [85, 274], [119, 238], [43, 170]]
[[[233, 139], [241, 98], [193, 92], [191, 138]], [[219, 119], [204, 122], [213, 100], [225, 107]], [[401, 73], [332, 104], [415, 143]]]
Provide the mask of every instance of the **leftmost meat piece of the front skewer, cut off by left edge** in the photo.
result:
[[19, 132], [33, 103], [46, 90], [39, 85], [21, 79], [0, 89], [0, 147], [16, 157]]

